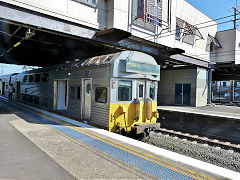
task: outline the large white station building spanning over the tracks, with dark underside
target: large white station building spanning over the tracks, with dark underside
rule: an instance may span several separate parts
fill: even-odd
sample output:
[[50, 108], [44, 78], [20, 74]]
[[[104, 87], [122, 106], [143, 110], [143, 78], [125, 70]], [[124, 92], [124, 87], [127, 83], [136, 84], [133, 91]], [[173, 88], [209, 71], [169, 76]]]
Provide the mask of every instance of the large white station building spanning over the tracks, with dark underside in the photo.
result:
[[0, 21], [1, 62], [46, 66], [141, 51], [161, 65], [159, 105], [207, 104], [217, 23], [186, 0], [1, 0]]

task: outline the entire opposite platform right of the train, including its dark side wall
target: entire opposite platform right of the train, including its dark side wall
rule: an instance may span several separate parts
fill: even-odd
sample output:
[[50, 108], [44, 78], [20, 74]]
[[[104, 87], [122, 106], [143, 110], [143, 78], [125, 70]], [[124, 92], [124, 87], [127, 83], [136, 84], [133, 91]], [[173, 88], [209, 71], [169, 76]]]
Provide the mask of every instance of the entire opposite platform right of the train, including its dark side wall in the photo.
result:
[[240, 142], [240, 107], [158, 106], [158, 112], [165, 118], [162, 128]]

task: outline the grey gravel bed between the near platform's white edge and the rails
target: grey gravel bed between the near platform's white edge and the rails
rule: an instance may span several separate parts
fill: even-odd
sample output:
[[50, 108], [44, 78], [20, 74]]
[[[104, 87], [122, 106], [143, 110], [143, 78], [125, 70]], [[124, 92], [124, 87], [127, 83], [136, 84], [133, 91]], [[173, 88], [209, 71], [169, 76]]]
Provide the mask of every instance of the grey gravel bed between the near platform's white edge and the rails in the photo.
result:
[[224, 150], [214, 146], [207, 146], [206, 144], [194, 143], [193, 141], [176, 138], [176, 136], [166, 136], [156, 132], [151, 132], [149, 137], [142, 141], [163, 149], [240, 172], [240, 153], [238, 152]]

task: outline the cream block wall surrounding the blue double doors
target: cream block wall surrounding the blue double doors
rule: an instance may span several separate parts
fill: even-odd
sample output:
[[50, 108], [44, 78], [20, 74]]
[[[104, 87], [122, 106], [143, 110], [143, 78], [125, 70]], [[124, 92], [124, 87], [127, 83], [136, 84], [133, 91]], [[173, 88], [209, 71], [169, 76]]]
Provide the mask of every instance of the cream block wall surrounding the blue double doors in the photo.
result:
[[158, 104], [175, 104], [175, 84], [191, 84], [191, 106], [206, 106], [208, 95], [207, 70], [202, 68], [161, 71]]

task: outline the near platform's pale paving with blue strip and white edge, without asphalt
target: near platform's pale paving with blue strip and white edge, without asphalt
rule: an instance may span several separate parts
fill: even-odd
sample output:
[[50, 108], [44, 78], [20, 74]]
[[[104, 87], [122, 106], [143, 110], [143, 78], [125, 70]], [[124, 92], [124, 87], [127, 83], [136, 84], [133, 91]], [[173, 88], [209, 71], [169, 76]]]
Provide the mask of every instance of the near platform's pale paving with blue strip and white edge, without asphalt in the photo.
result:
[[[6, 116], [12, 116], [9, 123], [15, 129], [77, 179], [240, 177], [228, 169], [0, 98], [0, 121]], [[0, 169], [0, 179], [13, 178], [1, 174]]]

